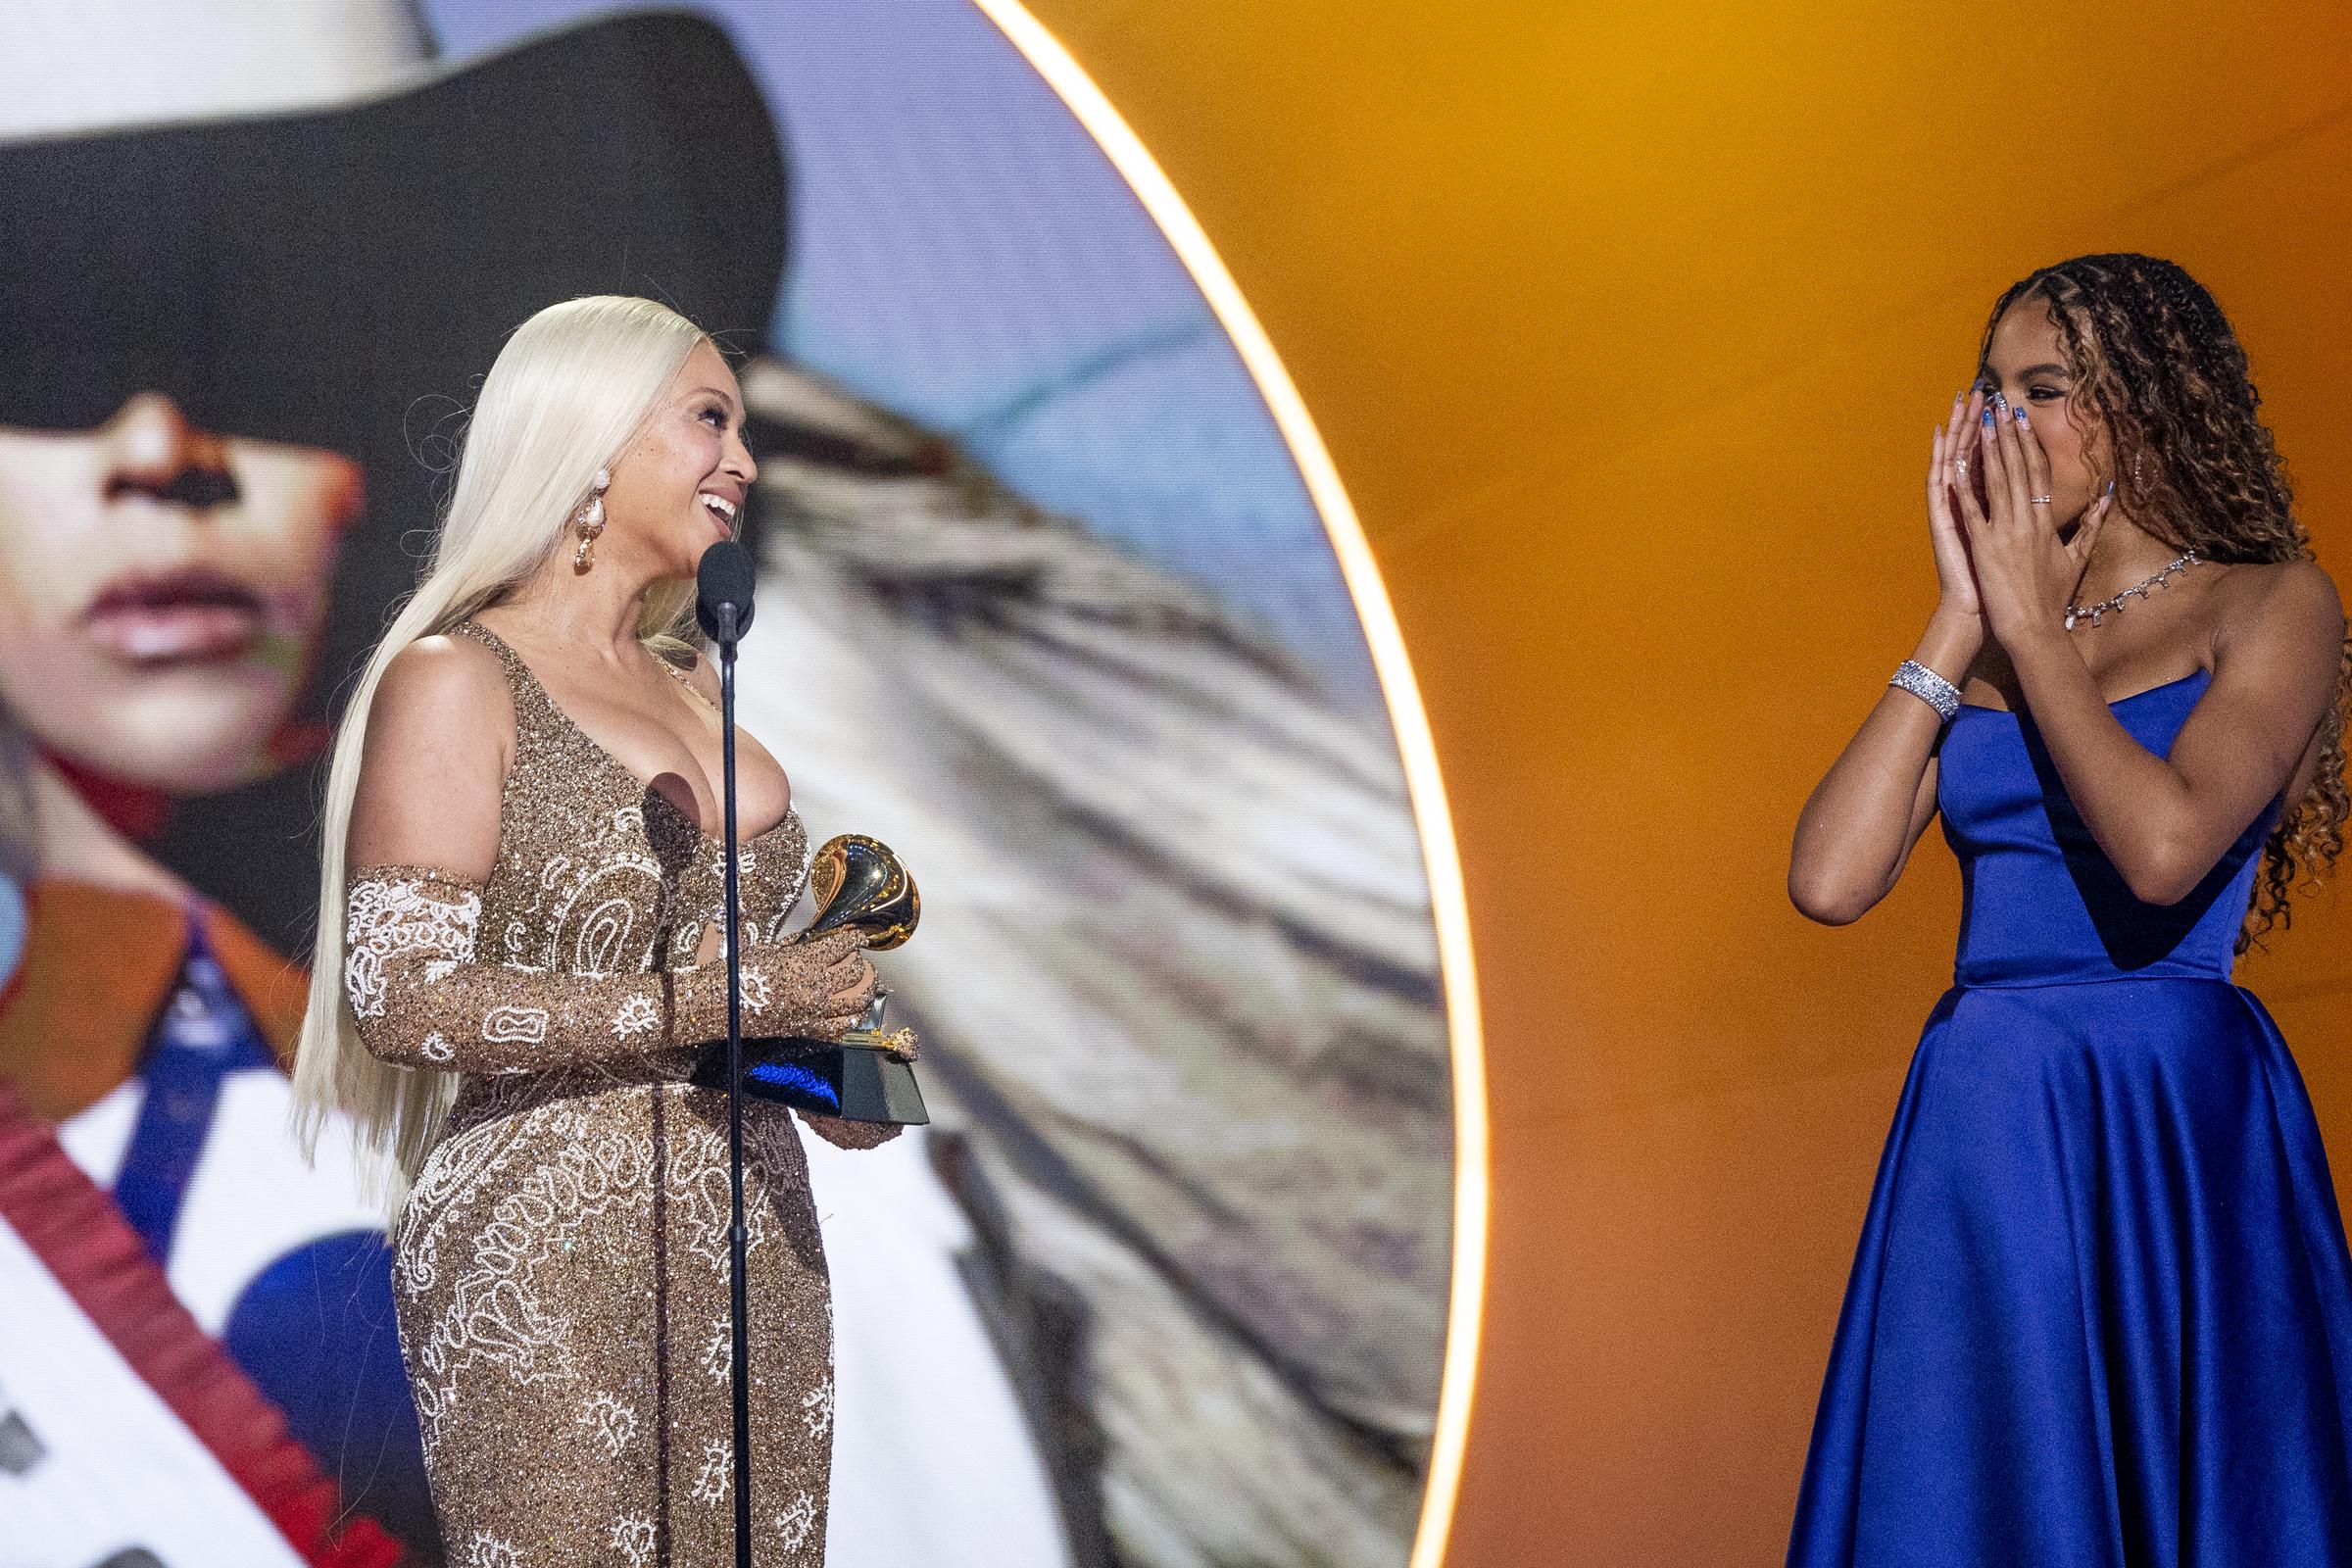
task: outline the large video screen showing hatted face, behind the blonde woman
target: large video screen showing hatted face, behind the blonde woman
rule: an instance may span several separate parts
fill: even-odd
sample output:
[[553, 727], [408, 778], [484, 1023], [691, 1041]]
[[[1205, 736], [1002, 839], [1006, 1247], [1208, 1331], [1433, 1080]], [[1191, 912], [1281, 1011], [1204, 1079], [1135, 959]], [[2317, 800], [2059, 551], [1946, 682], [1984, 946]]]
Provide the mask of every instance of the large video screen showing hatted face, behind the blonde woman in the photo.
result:
[[741, 722], [924, 896], [934, 1121], [809, 1143], [828, 1561], [1404, 1563], [1423, 842], [1327, 517], [1063, 99], [969, 0], [148, 9], [0, 82], [0, 1561], [489, 1561], [287, 1131], [320, 771], [503, 334], [647, 294], [748, 400]]

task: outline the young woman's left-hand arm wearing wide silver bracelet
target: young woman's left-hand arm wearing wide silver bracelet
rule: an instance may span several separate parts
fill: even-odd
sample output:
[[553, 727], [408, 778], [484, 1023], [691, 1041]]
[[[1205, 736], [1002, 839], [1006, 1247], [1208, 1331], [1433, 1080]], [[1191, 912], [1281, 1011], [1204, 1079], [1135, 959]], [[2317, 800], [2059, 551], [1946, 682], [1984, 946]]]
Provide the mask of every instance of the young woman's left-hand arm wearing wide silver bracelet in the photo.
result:
[[[1983, 602], [1962, 543], [1957, 463], [1976, 451], [1978, 393], [1952, 400], [1950, 428], [1938, 425], [1926, 468], [1929, 543], [1943, 597], [1912, 658], [1955, 686], [1985, 646]], [[1797, 816], [1788, 856], [1788, 898], [1806, 919], [1844, 926], [1893, 891], [1910, 851], [1936, 820], [1936, 745], [1943, 717], [1889, 686]]]

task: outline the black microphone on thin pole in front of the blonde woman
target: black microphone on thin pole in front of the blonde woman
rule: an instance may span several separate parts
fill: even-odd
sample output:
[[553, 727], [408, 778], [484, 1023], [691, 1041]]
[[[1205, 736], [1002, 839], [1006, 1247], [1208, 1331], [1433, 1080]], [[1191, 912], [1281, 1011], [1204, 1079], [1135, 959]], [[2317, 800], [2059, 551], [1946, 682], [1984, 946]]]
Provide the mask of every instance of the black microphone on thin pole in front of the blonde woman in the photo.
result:
[[694, 618], [720, 644], [720, 797], [727, 818], [727, 1335], [734, 1373], [736, 1568], [750, 1568], [750, 1286], [743, 1267], [743, 893], [736, 886], [734, 654], [750, 630], [750, 550], [731, 538], [703, 550]]

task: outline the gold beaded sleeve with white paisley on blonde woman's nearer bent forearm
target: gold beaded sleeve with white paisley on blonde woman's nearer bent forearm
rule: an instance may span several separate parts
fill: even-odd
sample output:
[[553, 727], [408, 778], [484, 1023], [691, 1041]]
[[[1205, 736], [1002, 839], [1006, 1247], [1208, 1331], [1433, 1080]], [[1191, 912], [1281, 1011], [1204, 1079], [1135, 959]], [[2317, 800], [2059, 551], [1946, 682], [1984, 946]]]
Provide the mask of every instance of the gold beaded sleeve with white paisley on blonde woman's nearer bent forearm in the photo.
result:
[[[727, 971], [555, 973], [475, 957], [482, 884], [421, 865], [353, 877], [343, 917], [343, 994], [372, 1056], [445, 1072], [546, 1072], [583, 1063], [659, 1063], [724, 1039]], [[746, 950], [746, 959], [753, 950]], [[788, 950], [764, 947], [783, 959]], [[797, 976], [743, 969], [746, 1032], [807, 1027]], [[661, 1063], [663, 1056], [675, 1060]]]

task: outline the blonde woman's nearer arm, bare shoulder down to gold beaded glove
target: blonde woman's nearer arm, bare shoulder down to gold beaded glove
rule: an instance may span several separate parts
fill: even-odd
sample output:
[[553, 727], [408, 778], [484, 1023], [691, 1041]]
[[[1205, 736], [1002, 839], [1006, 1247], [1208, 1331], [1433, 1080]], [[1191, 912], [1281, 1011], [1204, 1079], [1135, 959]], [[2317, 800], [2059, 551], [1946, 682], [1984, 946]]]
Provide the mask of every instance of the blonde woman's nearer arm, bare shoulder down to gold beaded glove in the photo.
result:
[[[355, 870], [346, 877], [343, 985], [360, 1041], [405, 1067], [539, 1072], [654, 1058], [724, 1034], [722, 964], [564, 976], [477, 961], [510, 750], [506, 677], [487, 649], [428, 637], [386, 670], [346, 851]], [[861, 945], [856, 933], [835, 933], [746, 947], [746, 1025], [849, 1030], [873, 990]]]

